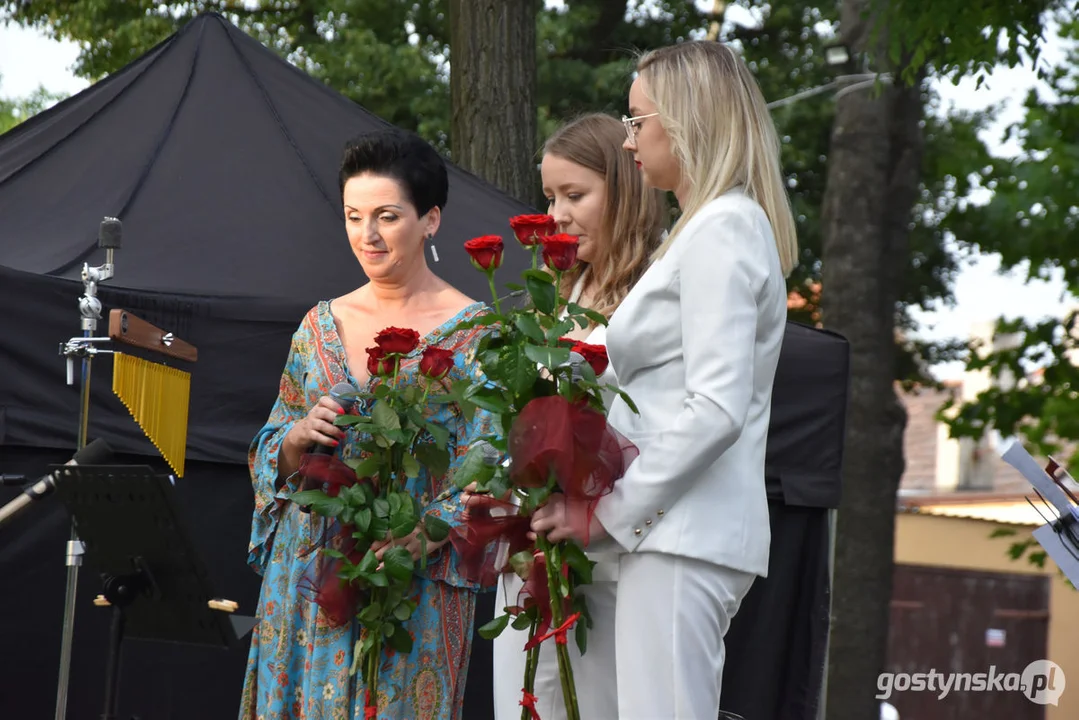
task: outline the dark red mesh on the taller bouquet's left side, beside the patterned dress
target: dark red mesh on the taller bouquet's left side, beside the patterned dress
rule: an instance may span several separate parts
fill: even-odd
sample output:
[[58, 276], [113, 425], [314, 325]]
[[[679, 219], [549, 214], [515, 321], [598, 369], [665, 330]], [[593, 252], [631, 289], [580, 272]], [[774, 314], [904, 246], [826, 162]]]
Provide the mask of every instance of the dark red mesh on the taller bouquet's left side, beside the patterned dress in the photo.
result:
[[[528, 539], [531, 517], [517, 514], [517, 505], [490, 495], [473, 495], [465, 505], [465, 521], [450, 531], [457, 552], [457, 572], [480, 587], [493, 587], [506, 559], [532, 547]], [[505, 548], [505, 554], [503, 554]]]

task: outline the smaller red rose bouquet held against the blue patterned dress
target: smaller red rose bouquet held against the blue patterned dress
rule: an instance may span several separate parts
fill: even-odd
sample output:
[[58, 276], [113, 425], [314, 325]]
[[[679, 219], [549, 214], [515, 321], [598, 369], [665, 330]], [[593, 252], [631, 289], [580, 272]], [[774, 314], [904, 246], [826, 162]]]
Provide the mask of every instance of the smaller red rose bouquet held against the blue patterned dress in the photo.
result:
[[[299, 589], [322, 608], [331, 624], [343, 625], [353, 617], [358, 622], [361, 633], [350, 674], [361, 673], [368, 720], [378, 717], [379, 675], [386, 649], [402, 654], [412, 650], [407, 624], [416, 608], [411, 599], [413, 580], [426, 563], [426, 543], [441, 542], [449, 532], [449, 525], [425, 513], [407, 487], [423, 470], [438, 477], [450, 465], [450, 431], [429, 415], [432, 406], [447, 397], [453, 353], [427, 345], [414, 373], [418, 382], [407, 382], [401, 361], [419, 342], [420, 335], [410, 328], [388, 327], [375, 336], [374, 347], [367, 349], [368, 390], [345, 398], [359, 400], [364, 412], [350, 412], [336, 421], [363, 433], [357, 452], [346, 460], [336, 454], [304, 454], [300, 473], [309, 485], [320, 489], [291, 497], [312, 513], [331, 519], [325, 546]], [[412, 533], [423, 547], [419, 568], [408, 549], [390, 543]]]

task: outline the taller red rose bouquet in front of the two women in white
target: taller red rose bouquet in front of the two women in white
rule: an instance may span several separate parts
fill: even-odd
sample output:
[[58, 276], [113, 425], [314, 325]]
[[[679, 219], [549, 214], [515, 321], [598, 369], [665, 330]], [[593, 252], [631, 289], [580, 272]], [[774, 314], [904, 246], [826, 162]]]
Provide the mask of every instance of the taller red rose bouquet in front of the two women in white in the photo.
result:
[[[598, 377], [607, 365], [602, 345], [565, 340], [575, 327], [606, 324], [595, 311], [562, 298], [563, 273], [577, 262], [577, 239], [555, 232], [545, 215], [510, 219], [518, 241], [532, 250], [532, 269], [523, 285], [508, 285], [531, 303], [502, 309], [494, 273], [502, 264], [498, 235], [469, 240], [473, 264], [488, 276], [494, 312], [468, 321], [490, 326], [476, 351], [481, 381], [459, 383], [451, 397], [467, 407], [492, 412], [496, 434], [477, 441], [455, 476], [457, 487], [474, 486], [464, 521], [450, 532], [461, 556], [459, 572], [484, 586], [504, 572], [516, 572], [524, 587], [510, 607], [480, 628], [483, 637], [501, 634], [511, 622], [529, 629], [529, 653], [522, 689], [522, 719], [535, 720], [534, 678], [540, 644], [554, 639], [570, 720], [579, 720], [566, 636], [573, 629], [582, 652], [591, 620], [585, 598], [575, 589], [591, 582], [595, 565], [572, 541], [529, 539], [532, 512], [551, 493], [583, 501], [582, 534], [587, 532], [599, 498], [611, 491], [634, 457], [633, 448], [606, 424]], [[545, 269], [538, 268], [542, 258]]]

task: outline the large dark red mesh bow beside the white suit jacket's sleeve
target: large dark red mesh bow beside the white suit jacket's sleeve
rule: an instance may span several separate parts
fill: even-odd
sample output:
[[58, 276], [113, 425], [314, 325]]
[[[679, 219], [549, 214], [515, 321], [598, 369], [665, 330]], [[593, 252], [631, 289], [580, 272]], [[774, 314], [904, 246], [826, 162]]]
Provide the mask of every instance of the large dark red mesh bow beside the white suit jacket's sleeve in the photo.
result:
[[524, 406], [509, 433], [509, 477], [515, 485], [532, 488], [544, 486], [554, 475], [566, 500], [584, 502], [585, 512], [577, 520], [584, 525], [576, 530], [587, 538], [596, 503], [611, 492], [637, 452], [587, 403], [570, 403], [561, 395], [536, 397]]

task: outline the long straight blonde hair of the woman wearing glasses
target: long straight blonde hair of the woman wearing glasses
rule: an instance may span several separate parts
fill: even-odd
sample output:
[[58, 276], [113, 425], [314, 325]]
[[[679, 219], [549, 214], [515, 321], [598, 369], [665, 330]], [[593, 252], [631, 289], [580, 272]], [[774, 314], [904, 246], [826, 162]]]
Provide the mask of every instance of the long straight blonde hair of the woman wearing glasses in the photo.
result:
[[798, 243], [779, 136], [749, 68], [726, 45], [698, 40], [645, 53], [637, 69], [688, 184], [682, 216], [655, 257], [701, 207], [740, 185], [764, 208], [783, 276], [790, 275]]

